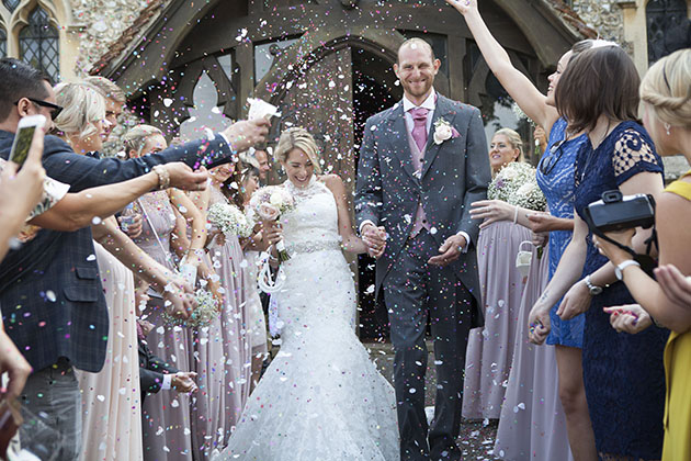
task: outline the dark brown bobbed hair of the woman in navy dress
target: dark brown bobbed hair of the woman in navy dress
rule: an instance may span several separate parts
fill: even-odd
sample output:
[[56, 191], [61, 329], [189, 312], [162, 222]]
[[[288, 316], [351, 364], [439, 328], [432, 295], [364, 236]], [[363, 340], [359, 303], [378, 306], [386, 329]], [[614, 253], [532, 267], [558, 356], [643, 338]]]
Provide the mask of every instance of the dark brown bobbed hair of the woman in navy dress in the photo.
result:
[[637, 120], [638, 71], [619, 46], [587, 49], [574, 57], [559, 79], [555, 102], [569, 131], [590, 131], [600, 115]]

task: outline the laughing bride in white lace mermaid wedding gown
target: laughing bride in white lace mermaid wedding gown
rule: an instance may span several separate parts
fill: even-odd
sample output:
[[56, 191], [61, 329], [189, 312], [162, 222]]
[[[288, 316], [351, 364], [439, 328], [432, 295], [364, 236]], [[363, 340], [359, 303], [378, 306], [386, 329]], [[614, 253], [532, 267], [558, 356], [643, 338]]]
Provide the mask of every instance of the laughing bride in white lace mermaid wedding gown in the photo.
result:
[[216, 460], [399, 459], [394, 390], [354, 331], [356, 292], [342, 250], [366, 247], [351, 227], [342, 180], [315, 175], [317, 155], [306, 130], [281, 134], [275, 157], [296, 202], [281, 218], [291, 259], [273, 294], [283, 342]]

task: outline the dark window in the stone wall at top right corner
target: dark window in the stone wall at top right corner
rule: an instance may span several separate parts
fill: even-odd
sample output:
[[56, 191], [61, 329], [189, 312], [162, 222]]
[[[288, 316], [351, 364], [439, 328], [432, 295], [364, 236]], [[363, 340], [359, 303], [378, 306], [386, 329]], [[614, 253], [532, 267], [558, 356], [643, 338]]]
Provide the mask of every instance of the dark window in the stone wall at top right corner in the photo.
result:
[[686, 0], [650, 0], [645, 8], [648, 26], [648, 64], [691, 46]]

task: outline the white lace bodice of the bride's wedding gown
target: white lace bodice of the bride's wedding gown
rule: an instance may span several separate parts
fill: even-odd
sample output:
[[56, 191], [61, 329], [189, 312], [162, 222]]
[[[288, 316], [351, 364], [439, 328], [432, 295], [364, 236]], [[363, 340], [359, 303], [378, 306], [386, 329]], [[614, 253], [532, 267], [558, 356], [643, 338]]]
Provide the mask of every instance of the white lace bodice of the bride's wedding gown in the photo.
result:
[[316, 176], [305, 189], [296, 188], [290, 180], [283, 187], [295, 200], [295, 209], [283, 216], [288, 252], [339, 249], [338, 211], [331, 191]]

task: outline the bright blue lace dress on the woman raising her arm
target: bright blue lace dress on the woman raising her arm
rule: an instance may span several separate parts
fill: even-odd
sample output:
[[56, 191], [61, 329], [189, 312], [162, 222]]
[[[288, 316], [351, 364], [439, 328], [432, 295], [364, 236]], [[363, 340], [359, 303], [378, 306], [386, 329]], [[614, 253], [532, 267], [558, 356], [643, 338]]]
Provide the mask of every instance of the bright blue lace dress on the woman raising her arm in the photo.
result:
[[[566, 137], [566, 120], [559, 119], [550, 132], [550, 144], [537, 166], [537, 184], [547, 199], [550, 213], [556, 217], [574, 217], [574, 164], [578, 150], [588, 139], [584, 134], [574, 139]], [[571, 241], [570, 231], [550, 233], [550, 279], [554, 276], [559, 259]], [[584, 315], [570, 321], [563, 321], [556, 315], [562, 303], [559, 300], [550, 311], [552, 330], [547, 336], [548, 345], [562, 345], [580, 348], [584, 339]]]

